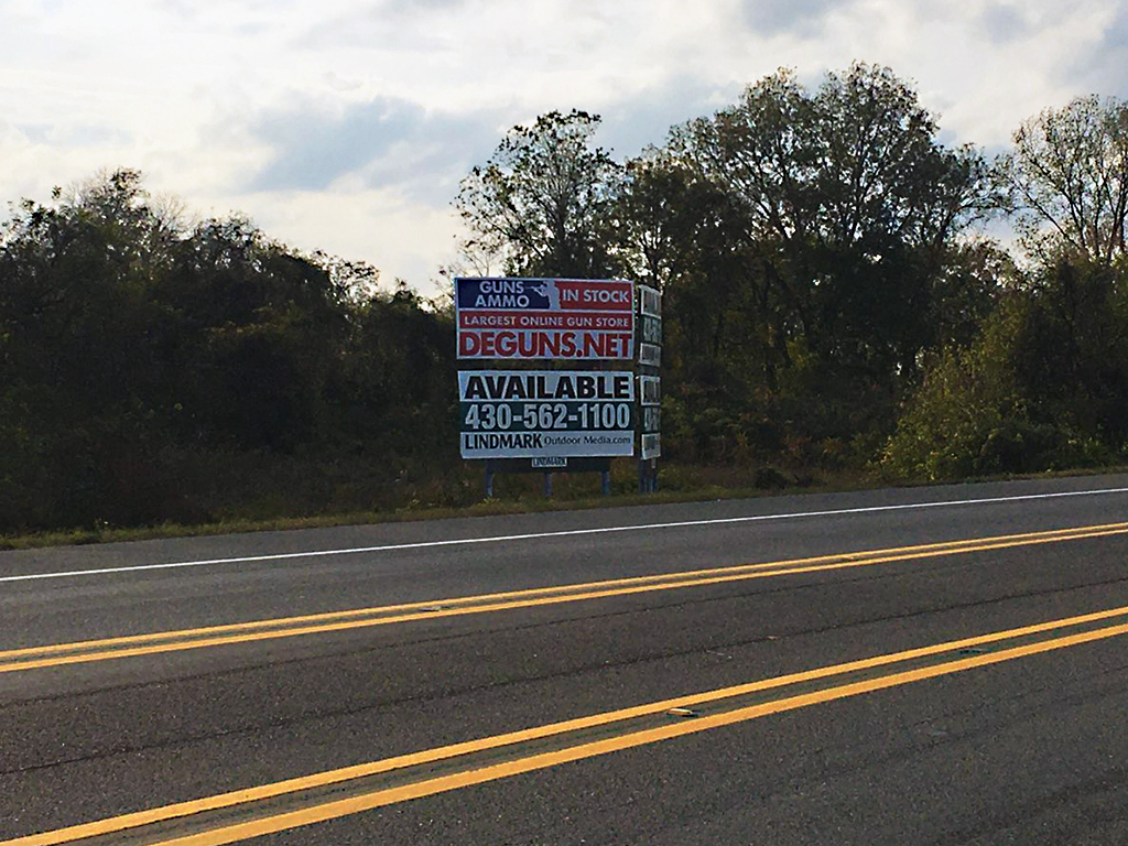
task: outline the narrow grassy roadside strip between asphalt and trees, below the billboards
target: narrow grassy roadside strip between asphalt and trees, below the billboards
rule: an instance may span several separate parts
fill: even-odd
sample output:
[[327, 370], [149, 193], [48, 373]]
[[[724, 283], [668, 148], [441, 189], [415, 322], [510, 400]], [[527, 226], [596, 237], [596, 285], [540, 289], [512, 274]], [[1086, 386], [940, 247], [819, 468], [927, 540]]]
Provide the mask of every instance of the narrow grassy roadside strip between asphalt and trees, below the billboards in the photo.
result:
[[[100, 525], [58, 531], [28, 532], [0, 536], [0, 550], [36, 549], [53, 546], [126, 543], [159, 538], [206, 537], [258, 531], [287, 531], [294, 529], [327, 528], [334, 526], [364, 526], [385, 522], [442, 520], [449, 518], [496, 517], [528, 514], [547, 511], [579, 511], [584, 509], [653, 505], [707, 500], [734, 500], [779, 496], [797, 493], [835, 493], [875, 490], [896, 485], [920, 487], [932, 484], [1003, 482], [1023, 478], [1061, 478], [1096, 476], [1128, 472], [1128, 467], [1085, 468], [1054, 473], [1003, 475], [951, 479], [941, 482], [897, 482], [860, 472], [811, 474], [803, 470], [779, 470], [774, 467], [749, 469], [741, 467], [686, 467], [672, 465], [661, 470], [661, 490], [640, 494], [634, 468], [623, 462], [613, 472], [613, 491], [603, 496], [598, 493], [598, 477], [593, 474], [554, 476], [554, 495], [546, 499], [539, 475], [499, 477], [495, 499], [477, 499], [467, 504], [428, 504], [412, 499], [399, 508], [376, 510], [334, 510], [332, 508], [305, 515], [240, 515], [230, 513], [214, 521], [187, 525], [164, 522], [142, 527], [113, 527]], [[629, 466], [627, 466], [629, 465]], [[594, 481], [592, 481], [594, 478]], [[262, 504], [248, 505], [249, 512], [259, 512]]]

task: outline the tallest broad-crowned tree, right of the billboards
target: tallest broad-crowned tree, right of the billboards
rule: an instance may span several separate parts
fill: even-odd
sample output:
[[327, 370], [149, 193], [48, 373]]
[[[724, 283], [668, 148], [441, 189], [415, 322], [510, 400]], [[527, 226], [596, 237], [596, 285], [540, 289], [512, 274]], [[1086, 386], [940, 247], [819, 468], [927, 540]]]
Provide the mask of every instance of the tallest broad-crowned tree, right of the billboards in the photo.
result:
[[776, 331], [889, 378], [915, 372], [952, 240], [990, 204], [982, 158], [936, 133], [908, 85], [855, 64], [813, 94], [779, 71], [676, 141], [746, 210]]

